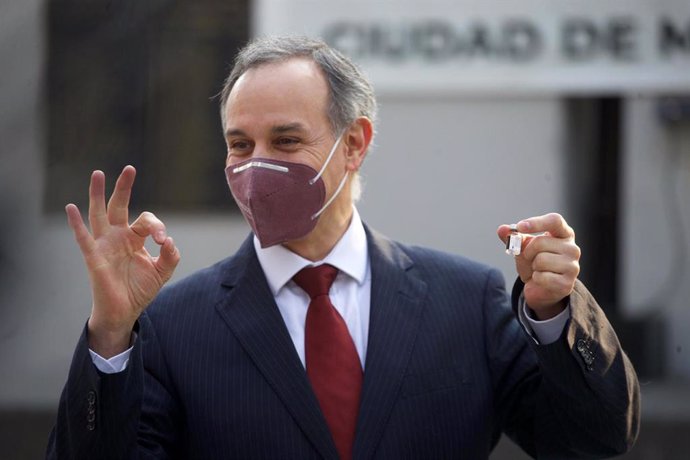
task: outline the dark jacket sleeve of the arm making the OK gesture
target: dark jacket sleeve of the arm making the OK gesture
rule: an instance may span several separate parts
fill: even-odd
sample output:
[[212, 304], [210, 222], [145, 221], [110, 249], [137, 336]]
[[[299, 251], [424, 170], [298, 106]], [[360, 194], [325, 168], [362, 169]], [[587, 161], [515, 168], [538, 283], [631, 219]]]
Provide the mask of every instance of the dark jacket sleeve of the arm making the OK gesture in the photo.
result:
[[[148, 326], [148, 327], [147, 327]], [[175, 399], [166, 389], [162, 359], [144, 369], [142, 349], [156, 356], [155, 333], [143, 315], [135, 330], [127, 368], [104, 374], [94, 366], [87, 329], [77, 343], [63, 388], [49, 459], [174, 458], [173, 440], [179, 417]], [[149, 351], [151, 350], [151, 351]], [[147, 357], [147, 362], [148, 362]]]

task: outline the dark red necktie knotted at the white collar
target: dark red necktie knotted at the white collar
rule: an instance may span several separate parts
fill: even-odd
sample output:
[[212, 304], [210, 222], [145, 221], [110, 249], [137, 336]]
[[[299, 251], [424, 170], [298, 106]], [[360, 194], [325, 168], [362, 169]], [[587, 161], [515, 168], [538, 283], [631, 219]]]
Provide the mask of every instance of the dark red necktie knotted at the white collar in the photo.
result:
[[362, 365], [345, 321], [328, 291], [338, 270], [319, 265], [300, 270], [293, 280], [311, 302], [307, 310], [304, 348], [307, 376], [343, 460], [352, 458], [362, 389]]

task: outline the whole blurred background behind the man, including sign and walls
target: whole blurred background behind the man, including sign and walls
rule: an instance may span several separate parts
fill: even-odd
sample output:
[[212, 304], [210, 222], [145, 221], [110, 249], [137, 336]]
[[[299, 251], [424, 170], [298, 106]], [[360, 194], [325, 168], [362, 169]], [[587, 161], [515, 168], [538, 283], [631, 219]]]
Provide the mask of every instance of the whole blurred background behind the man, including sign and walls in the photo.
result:
[[[372, 76], [373, 227], [512, 283], [496, 227], [566, 217], [640, 375], [624, 458], [688, 458], [690, 4], [505, 3], [0, 0], [0, 458], [43, 456], [90, 310], [64, 205], [85, 209], [93, 169], [112, 185], [133, 164], [133, 214], [166, 222], [176, 278], [232, 253], [248, 227], [214, 95], [250, 36], [279, 32], [322, 35]], [[524, 454], [504, 440], [492, 458]]]

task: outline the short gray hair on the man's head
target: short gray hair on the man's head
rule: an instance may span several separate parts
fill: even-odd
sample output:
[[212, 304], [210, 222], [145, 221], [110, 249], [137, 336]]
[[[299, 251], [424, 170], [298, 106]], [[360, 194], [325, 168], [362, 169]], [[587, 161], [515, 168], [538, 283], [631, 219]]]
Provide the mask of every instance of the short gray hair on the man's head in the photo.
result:
[[339, 51], [321, 40], [306, 37], [263, 37], [250, 41], [235, 58], [235, 65], [220, 93], [220, 112], [225, 126], [225, 105], [237, 80], [263, 64], [292, 58], [312, 59], [326, 77], [329, 90], [328, 117], [333, 135], [340, 134], [358, 117], [376, 120], [374, 89], [362, 71]]

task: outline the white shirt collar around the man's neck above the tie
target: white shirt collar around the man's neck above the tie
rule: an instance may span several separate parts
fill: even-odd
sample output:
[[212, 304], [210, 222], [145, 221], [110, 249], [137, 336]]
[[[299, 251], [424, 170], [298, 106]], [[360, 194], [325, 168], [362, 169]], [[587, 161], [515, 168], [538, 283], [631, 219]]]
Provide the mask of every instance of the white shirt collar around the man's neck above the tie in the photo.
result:
[[364, 282], [368, 263], [367, 236], [357, 208], [353, 207], [352, 211], [350, 226], [331, 252], [320, 261], [311, 262], [282, 245], [262, 248], [259, 239], [254, 236], [254, 249], [274, 296], [304, 267], [325, 263], [346, 273], [358, 284]]

